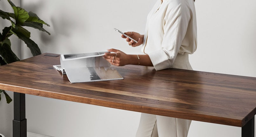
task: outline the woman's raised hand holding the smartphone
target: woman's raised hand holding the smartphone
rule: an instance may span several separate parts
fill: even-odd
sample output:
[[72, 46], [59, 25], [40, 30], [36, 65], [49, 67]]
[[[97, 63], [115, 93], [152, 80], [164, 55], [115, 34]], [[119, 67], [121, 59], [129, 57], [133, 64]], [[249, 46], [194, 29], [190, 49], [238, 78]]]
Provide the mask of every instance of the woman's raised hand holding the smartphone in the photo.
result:
[[[133, 40], [125, 37], [125, 35], [128, 35], [132, 39], [136, 40], [138, 43], [136, 43]], [[128, 45], [131, 45], [132, 47], [137, 47], [137, 46], [143, 44], [144, 35], [140, 35], [137, 32], [126, 32], [125, 35], [122, 34], [121, 37], [126, 39], [126, 41], [128, 42]]]

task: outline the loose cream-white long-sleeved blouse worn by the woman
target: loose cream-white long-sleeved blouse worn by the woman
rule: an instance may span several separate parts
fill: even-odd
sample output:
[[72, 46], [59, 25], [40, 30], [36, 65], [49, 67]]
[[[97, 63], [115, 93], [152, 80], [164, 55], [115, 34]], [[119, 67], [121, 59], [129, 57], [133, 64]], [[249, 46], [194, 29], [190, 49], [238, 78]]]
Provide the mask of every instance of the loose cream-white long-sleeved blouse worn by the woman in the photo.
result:
[[196, 11], [193, 0], [157, 0], [147, 17], [141, 51], [155, 69], [172, 68], [177, 54], [197, 48]]

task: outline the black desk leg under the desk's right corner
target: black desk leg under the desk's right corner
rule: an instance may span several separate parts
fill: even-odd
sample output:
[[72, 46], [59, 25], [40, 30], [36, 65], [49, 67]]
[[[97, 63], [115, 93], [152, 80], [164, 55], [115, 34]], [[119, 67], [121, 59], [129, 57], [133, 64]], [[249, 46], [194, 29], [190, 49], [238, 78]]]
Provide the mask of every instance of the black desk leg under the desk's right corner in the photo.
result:
[[254, 137], [254, 116], [242, 127], [242, 137]]

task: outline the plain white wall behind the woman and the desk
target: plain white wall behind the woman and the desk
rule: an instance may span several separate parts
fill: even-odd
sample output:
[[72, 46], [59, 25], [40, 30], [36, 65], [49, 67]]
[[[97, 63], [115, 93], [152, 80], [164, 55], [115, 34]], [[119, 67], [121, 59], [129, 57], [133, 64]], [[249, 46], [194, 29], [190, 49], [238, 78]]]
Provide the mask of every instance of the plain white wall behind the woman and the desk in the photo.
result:
[[[51, 25], [45, 27], [51, 36], [31, 30], [32, 39], [43, 53], [68, 54], [108, 48], [138, 53], [140, 47], [129, 47], [113, 28], [144, 33], [146, 15], [155, 1], [22, 0], [22, 7]], [[256, 1], [196, 0], [195, 5], [198, 49], [190, 55], [193, 69], [256, 77], [253, 54]], [[21, 58], [31, 56], [22, 44]], [[131, 137], [136, 133], [140, 114], [26, 95], [26, 117], [28, 131], [38, 134]], [[240, 137], [241, 128], [193, 121], [188, 136]]]

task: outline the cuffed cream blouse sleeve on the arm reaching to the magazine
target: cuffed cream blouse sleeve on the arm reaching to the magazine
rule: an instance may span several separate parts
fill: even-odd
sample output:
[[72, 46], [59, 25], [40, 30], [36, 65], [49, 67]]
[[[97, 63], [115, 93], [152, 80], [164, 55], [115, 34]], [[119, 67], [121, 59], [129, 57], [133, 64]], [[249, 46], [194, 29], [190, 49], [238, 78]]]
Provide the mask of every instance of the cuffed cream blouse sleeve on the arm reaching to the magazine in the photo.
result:
[[169, 4], [163, 20], [162, 49], [148, 54], [156, 70], [172, 67], [187, 31], [189, 11], [183, 1]]

